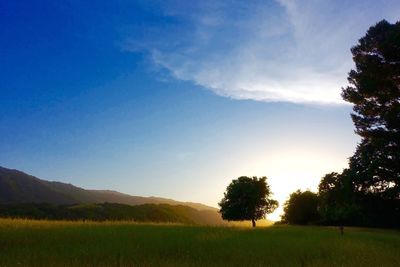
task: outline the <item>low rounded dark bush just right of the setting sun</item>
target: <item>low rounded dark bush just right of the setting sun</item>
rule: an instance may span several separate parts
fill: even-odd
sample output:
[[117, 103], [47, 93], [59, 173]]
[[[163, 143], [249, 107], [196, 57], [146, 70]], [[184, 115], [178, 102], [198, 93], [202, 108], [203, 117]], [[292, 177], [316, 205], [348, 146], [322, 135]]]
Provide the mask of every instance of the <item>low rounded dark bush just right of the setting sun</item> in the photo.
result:
[[315, 224], [319, 221], [318, 195], [311, 191], [290, 194], [284, 206], [282, 220], [290, 224]]

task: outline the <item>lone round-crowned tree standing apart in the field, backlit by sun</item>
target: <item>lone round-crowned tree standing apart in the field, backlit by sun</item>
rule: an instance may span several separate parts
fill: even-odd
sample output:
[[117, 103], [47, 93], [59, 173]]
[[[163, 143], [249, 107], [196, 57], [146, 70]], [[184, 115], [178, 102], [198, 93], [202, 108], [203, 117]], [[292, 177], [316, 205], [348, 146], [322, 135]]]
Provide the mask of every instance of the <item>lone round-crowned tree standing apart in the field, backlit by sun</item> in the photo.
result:
[[229, 184], [219, 203], [222, 218], [228, 221], [251, 220], [255, 227], [256, 220], [265, 218], [278, 207], [278, 201], [269, 198], [271, 194], [267, 177], [239, 177]]

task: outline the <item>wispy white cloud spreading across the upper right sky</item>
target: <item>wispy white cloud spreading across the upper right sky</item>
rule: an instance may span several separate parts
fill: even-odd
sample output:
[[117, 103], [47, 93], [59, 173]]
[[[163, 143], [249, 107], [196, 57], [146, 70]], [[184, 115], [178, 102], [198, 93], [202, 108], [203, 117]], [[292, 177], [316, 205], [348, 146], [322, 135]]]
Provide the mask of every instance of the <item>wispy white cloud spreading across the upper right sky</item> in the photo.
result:
[[[340, 3], [338, 3], [340, 2]], [[158, 2], [163, 25], [125, 50], [147, 50], [153, 64], [233, 99], [340, 104], [352, 67], [350, 47], [398, 1]], [[153, 34], [151, 34], [151, 32]]]

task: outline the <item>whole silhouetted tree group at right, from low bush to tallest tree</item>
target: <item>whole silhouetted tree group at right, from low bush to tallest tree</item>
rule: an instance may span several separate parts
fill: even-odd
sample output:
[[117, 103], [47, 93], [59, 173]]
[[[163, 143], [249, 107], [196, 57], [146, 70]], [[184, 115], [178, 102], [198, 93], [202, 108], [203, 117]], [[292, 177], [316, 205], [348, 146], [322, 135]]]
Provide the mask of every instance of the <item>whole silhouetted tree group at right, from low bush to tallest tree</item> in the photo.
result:
[[351, 51], [356, 68], [342, 97], [361, 142], [317, 194], [290, 196], [283, 221], [400, 228], [400, 22], [377, 23]]

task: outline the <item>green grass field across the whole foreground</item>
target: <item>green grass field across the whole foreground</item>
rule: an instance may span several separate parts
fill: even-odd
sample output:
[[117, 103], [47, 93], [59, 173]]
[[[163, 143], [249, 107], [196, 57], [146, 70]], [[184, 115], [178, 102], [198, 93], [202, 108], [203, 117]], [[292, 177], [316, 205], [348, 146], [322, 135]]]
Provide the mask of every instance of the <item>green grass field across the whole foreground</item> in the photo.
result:
[[400, 266], [400, 232], [0, 219], [0, 266]]

